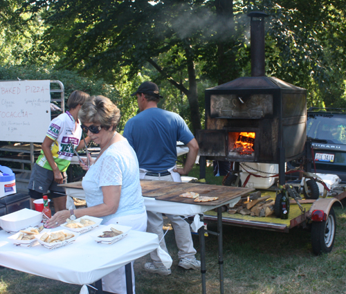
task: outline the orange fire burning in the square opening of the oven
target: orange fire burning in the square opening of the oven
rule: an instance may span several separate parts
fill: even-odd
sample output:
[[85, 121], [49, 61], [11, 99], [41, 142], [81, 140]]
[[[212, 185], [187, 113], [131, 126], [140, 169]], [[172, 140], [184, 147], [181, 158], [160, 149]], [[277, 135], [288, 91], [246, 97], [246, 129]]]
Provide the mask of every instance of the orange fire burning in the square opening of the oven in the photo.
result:
[[228, 156], [231, 157], [255, 157], [255, 133], [229, 132], [228, 133]]

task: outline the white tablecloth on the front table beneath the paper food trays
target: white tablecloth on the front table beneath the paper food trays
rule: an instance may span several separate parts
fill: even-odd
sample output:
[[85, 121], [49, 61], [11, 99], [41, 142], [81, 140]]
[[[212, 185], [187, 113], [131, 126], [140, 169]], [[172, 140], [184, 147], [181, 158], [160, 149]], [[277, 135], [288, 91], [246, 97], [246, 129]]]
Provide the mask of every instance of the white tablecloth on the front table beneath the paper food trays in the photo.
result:
[[37, 244], [15, 246], [10, 233], [0, 231], [0, 265], [25, 273], [57, 279], [70, 284], [91, 284], [130, 261], [158, 248], [158, 237], [130, 230], [127, 237], [112, 245], [98, 244], [87, 232], [68, 246], [49, 250]]

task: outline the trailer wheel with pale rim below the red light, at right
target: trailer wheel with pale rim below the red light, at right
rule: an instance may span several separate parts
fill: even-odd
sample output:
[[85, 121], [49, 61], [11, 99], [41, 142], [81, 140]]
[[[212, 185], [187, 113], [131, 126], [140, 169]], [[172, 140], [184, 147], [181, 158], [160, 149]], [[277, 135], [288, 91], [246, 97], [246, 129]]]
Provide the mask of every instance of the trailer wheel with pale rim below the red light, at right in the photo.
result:
[[311, 244], [313, 253], [331, 252], [334, 246], [336, 233], [336, 217], [334, 209], [331, 208], [327, 221], [313, 221], [311, 223]]

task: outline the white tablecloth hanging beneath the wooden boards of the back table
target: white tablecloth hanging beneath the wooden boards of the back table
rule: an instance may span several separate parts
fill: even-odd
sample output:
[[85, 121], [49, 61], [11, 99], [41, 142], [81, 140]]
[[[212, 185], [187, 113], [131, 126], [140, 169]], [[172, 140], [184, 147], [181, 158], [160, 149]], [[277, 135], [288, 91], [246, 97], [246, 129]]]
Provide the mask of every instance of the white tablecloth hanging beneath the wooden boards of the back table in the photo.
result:
[[[75, 197], [78, 199], [85, 199], [84, 190], [76, 189], [71, 187], [66, 187], [66, 194], [70, 197]], [[230, 206], [235, 205], [241, 196], [235, 197], [230, 201], [224, 203], [223, 205], [230, 204]], [[73, 201], [70, 199], [67, 200], [67, 206], [71, 205]], [[210, 206], [210, 205], [197, 205], [190, 203], [179, 203], [173, 201], [163, 201], [156, 200], [150, 197], [144, 197], [145, 208], [148, 211], [152, 212], [161, 212], [167, 214], [181, 215], [181, 216], [190, 216], [194, 214], [199, 214], [203, 212], [207, 212], [208, 210], [213, 210], [218, 206]], [[69, 207], [68, 207], [69, 208]]]

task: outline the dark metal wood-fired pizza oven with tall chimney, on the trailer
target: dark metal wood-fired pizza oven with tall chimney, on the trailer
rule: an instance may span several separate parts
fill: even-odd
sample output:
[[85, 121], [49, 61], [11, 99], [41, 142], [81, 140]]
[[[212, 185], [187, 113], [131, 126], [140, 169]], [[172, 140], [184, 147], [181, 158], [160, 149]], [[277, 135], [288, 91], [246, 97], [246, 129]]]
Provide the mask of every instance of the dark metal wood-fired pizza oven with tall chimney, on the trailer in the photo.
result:
[[206, 89], [199, 155], [235, 162], [281, 163], [302, 156], [307, 91], [264, 75], [263, 12], [251, 12], [251, 77]]

